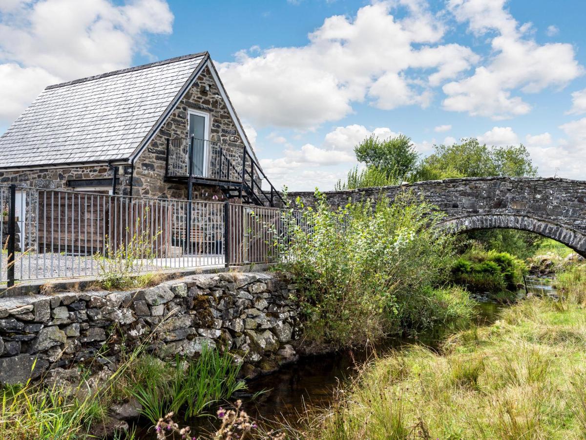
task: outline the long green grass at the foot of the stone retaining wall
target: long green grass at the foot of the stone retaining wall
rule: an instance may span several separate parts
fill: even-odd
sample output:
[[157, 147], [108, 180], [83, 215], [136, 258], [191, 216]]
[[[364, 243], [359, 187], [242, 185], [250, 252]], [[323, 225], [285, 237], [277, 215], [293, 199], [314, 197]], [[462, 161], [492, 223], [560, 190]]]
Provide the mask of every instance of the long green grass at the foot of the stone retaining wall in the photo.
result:
[[[229, 353], [205, 348], [196, 360], [176, 358], [165, 363], [145, 353], [149, 339], [128, 353], [123, 351], [117, 370], [101, 375], [94, 385], [85, 380], [84, 372], [77, 387], [49, 388], [29, 380], [0, 388], [0, 438], [96, 438], [91, 432], [107, 423], [108, 408], [115, 402], [136, 398], [143, 405], [142, 415], [156, 424], [170, 411], [185, 418], [201, 415], [213, 402], [244, 388], [237, 379], [240, 365]], [[117, 438], [133, 439], [134, 433]]]

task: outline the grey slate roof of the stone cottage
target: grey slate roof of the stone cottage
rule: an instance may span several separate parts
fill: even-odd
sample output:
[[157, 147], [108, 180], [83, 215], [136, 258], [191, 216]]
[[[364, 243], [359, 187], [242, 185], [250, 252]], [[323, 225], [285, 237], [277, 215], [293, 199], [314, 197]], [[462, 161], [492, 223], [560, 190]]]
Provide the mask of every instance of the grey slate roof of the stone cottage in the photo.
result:
[[0, 168], [124, 160], [207, 52], [49, 86], [0, 137]]

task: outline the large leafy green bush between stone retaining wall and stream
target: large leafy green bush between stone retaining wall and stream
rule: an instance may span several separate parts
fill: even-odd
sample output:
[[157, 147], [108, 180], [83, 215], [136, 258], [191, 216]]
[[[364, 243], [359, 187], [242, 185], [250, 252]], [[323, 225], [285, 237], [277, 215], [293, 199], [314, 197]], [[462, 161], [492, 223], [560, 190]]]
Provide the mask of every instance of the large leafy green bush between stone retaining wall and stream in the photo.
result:
[[437, 306], [430, 286], [452, 259], [453, 237], [433, 227], [441, 214], [410, 194], [337, 210], [316, 197], [316, 209], [291, 209], [276, 243], [299, 285], [305, 336], [340, 347], [428, 325], [421, 309]]

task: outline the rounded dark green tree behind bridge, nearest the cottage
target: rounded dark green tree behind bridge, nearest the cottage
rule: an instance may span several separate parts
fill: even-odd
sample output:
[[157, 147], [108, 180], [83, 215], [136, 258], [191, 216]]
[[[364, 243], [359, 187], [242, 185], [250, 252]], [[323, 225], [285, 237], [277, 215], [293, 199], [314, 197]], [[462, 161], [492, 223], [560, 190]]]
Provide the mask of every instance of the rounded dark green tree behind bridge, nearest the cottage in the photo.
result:
[[377, 168], [387, 177], [406, 180], [417, 170], [419, 153], [404, 134], [382, 141], [371, 135], [356, 145], [354, 152], [357, 160], [367, 168]]

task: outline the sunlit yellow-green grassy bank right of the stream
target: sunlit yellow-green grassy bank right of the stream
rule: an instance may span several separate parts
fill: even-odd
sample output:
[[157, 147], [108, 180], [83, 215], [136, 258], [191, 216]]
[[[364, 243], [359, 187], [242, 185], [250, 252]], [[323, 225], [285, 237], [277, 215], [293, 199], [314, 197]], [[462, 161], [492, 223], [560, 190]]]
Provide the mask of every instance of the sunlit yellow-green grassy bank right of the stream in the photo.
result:
[[586, 269], [558, 280], [563, 301], [533, 298], [492, 326], [367, 365], [310, 439], [568, 439], [586, 436]]

